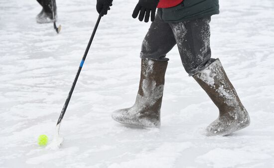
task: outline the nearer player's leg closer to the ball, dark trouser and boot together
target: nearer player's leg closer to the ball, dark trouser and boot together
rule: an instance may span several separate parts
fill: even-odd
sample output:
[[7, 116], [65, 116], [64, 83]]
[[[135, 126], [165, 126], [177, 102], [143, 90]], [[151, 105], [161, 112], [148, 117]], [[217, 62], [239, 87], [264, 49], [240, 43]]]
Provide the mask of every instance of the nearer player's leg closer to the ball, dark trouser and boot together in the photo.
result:
[[160, 108], [168, 60], [165, 56], [175, 44], [171, 28], [157, 14], [142, 43], [141, 75], [136, 102], [131, 108], [113, 112], [114, 120], [144, 127], [160, 126]]

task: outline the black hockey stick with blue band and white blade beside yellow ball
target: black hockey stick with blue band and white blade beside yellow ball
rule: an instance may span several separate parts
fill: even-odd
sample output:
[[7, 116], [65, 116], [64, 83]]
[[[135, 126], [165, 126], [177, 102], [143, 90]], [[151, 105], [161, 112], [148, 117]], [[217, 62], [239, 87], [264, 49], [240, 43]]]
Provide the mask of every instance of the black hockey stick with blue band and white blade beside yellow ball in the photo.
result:
[[[103, 12], [102, 12], [102, 13], [103, 13]], [[70, 91], [69, 91], [67, 100], [66, 100], [66, 102], [65, 102], [65, 105], [64, 105], [64, 107], [63, 107], [63, 109], [62, 109], [62, 112], [61, 112], [61, 114], [60, 114], [60, 116], [59, 116], [59, 119], [58, 119], [58, 121], [57, 121], [57, 124], [56, 124], [56, 127], [55, 127], [55, 136], [54, 136], [54, 139], [53, 139], [52, 143], [51, 143], [49, 146], [47, 146], [47, 148], [50, 148], [50, 149], [58, 149], [58, 147], [60, 147], [60, 146], [62, 145], [63, 141], [64, 141], [63, 138], [59, 137], [60, 125], [61, 125], [62, 119], [63, 119], [63, 117], [64, 117], [64, 114], [65, 114], [65, 112], [66, 112], [66, 110], [67, 110], [67, 107], [68, 107], [68, 104], [69, 104], [71, 95], [72, 95], [72, 93], [73, 93], [73, 90], [74, 90], [74, 88], [75, 88], [76, 82], [77, 82], [78, 77], [79, 77], [79, 75], [80, 75], [81, 69], [82, 69], [83, 64], [84, 64], [84, 62], [85, 62], [85, 59], [86, 59], [86, 57], [87, 57], [87, 55], [88, 55], [88, 52], [89, 52], [91, 43], [92, 43], [93, 38], [94, 38], [94, 36], [95, 36], [96, 30], [97, 30], [98, 25], [99, 25], [100, 20], [101, 20], [101, 17], [103, 16], [102, 13], [100, 13], [100, 15], [99, 15], [99, 17], [98, 17], [98, 19], [97, 19], [97, 22], [96, 22], [95, 27], [94, 27], [94, 29], [93, 29], [93, 32], [92, 32], [92, 35], [91, 35], [91, 37], [90, 37], [88, 46], [87, 46], [87, 48], [86, 48], [85, 54], [84, 54], [84, 56], [83, 56], [83, 58], [82, 58], [82, 61], [81, 61], [80, 66], [79, 66], [79, 68], [78, 68], [77, 74], [76, 74], [76, 76], [75, 76], [75, 79], [74, 79], [74, 81], [73, 81], [73, 83], [72, 83], [72, 86], [71, 86], [71, 89], [70, 89]]]

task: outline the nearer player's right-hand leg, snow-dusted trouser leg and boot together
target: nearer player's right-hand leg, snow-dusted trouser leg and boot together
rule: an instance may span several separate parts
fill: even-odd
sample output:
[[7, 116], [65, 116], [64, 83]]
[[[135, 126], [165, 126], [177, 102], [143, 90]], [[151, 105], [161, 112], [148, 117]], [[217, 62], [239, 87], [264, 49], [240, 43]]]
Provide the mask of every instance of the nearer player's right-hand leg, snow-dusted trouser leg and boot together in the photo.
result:
[[250, 117], [219, 59], [211, 58], [210, 18], [171, 23], [185, 70], [219, 109], [207, 135], [227, 135], [250, 124]]

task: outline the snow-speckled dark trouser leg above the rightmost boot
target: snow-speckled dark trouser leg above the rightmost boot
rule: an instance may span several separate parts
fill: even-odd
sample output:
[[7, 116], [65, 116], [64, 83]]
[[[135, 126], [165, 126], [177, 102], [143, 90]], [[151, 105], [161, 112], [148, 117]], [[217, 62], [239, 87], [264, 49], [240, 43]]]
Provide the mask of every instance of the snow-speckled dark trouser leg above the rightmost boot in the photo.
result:
[[211, 58], [210, 17], [197, 20], [170, 23], [176, 38], [182, 64], [191, 76], [204, 68]]

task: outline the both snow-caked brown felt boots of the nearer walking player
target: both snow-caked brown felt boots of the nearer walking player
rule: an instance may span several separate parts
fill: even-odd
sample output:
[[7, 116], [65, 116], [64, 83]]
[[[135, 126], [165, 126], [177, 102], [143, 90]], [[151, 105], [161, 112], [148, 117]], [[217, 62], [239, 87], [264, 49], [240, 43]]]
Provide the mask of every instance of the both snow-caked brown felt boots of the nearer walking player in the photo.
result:
[[[133, 107], [113, 112], [114, 120], [142, 127], [160, 127], [160, 109], [167, 61], [141, 59], [141, 76]], [[193, 78], [219, 109], [219, 117], [207, 128], [207, 135], [228, 135], [247, 127], [250, 117], [229, 81], [219, 59]]]

